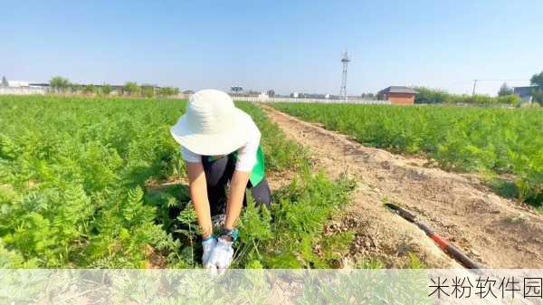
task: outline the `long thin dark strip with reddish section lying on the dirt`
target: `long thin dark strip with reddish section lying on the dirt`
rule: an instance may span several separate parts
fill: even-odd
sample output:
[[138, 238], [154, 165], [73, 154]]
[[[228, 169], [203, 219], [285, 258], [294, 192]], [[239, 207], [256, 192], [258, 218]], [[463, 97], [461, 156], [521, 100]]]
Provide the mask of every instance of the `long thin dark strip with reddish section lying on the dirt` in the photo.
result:
[[449, 253], [452, 256], [452, 258], [454, 258], [455, 260], [459, 262], [462, 262], [462, 265], [464, 267], [468, 269], [484, 269], [485, 268], [480, 263], [473, 261], [466, 254], [462, 253], [462, 251], [460, 251], [460, 249], [454, 246], [454, 244], [449, 243], [449, 241], [447, 241], [440, 235], [435, 234], [435, 232], [433, 232], [433, 229], [430, 226], [417, 220], [417, 217], [411, 212], [392, 203], [386, 203], [385, 205], [395, 214], [402, 216], [408, 222], [418, 226], [421, 230], [424, 231], [426, 235], [428, 235], [428, 237], [430, 237], [433, 240], [433, 242], [437, 243], [446, 253]]

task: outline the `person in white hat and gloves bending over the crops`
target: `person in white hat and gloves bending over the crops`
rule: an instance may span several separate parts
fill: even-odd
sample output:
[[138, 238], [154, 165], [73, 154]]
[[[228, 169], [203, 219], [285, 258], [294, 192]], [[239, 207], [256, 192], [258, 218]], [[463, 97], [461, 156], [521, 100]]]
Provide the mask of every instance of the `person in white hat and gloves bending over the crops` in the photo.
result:
[[[202, 229], [202, 264], [228, 268], [237, 238], [235, 224], [246, 202], [245, 189], [251, 189], [255, 203], [271, 203], [260, 130], [247, 113], [235, 108], [228, 94], [203, 90], [191, 96], [185, 115], [170, 132], [181, 145], [186, 163], [190, 196]], [[218, 237], [212, 214], [224, 214]]]

